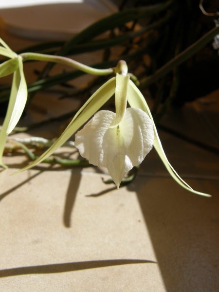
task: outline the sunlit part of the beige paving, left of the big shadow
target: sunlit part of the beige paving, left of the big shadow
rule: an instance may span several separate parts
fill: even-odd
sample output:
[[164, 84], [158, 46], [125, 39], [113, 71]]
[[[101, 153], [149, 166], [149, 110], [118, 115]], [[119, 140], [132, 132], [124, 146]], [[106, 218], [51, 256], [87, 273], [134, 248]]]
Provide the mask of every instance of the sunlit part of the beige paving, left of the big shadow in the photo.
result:
[[2, 291], [144, 291], [145, 284], [156, 291], [158, 283], [163, 290], [136, 194], [87, 197], [106, 189], [99, 179], [70, 171], [5, 177]]

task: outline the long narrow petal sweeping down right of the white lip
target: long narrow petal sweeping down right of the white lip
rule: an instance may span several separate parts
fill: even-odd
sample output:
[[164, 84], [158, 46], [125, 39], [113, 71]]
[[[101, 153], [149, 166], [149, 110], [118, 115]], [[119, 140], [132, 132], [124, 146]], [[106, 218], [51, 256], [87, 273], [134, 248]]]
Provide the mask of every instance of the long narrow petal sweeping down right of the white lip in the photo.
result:
[[[146, 103], [146, 100], [144, 96], [142, 95], [141, 91], [135, 86], [135, 84], [130, 80], [129, 81], [129, 88], [128, 88], [128, 103], [133, 108], [139, 108], [149, 115], [151, 120], [153, 121], [153, 117], [151, 115], [150, 109]], [[187, 183], [183, 181], [183, 179], [178, 175], [178, 173], [175, 171], [175, 169], [172, 167], [172, 165], [167, 160], [167, 157], [164, 153], [163, 146], [161, 144], [160, 138], [158, 136], [157, 128], [154, 124], [154, 148], [156, 149], [158, 155], [160, 156], [162, 162], [164, 163], [166, 169], [168, 170], [169, 174], [172, 176], [172, 178], [179, 183], [183, 188], [186, 190], [205, 197], [211, 197], [209, 194], [201, 193], [198, 191], [193, 190]]]

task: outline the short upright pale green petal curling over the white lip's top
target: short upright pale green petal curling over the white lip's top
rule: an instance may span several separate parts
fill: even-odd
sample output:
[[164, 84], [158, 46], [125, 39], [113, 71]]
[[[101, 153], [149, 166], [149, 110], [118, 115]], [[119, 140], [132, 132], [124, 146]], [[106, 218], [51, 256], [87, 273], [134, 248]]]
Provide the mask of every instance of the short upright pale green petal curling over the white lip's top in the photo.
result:
[[113, 127], [117, 127], [124, 118], [127, 107], [129, 75], [116, 73], [115, 108], [116, 119]]

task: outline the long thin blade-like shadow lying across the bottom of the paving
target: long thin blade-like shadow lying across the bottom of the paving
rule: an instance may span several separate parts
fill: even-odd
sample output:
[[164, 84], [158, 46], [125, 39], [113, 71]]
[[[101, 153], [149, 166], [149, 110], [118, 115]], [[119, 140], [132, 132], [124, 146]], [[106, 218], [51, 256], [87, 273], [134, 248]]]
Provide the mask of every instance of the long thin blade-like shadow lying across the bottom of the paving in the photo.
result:
[[51, 274], [51, 273], [64, 273], [72, 271], [80, 271], [86, 269], [103, 268], [117, 265], [127, 264], [144, 264], [156, 263], [152, 260], [144, 259], [106, 259], [106, 260], [93, 260], [84, 262], [71, 262], [61, 264], [50, 264], [40, 266], [18, 267], [12, 269], [0, 270], [0, 277], [10, 277], [25, 274]]

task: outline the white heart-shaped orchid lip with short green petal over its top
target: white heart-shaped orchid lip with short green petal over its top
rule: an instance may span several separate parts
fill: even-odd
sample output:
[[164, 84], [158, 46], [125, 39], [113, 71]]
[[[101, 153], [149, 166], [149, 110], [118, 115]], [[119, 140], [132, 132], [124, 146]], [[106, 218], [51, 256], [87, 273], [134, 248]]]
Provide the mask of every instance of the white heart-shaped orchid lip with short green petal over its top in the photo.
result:
[[107, 167], [117, 188], [133, 166], [152, 149], [153, 123], [145, 111], [127, 107], [129, 76], [116, 75], [116, 114], [98, 111], [77, 132], [75, 146], [89, 163]]

